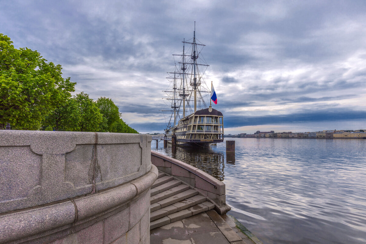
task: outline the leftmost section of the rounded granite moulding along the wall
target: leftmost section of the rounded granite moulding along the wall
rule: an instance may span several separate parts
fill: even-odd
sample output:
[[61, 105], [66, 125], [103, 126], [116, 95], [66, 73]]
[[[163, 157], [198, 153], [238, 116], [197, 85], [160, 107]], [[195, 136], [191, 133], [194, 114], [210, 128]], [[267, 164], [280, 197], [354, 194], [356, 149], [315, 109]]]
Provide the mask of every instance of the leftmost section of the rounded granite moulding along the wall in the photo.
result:
[[0, 243], [47, 232], [75, 221], [71, 201], [0, 216]]

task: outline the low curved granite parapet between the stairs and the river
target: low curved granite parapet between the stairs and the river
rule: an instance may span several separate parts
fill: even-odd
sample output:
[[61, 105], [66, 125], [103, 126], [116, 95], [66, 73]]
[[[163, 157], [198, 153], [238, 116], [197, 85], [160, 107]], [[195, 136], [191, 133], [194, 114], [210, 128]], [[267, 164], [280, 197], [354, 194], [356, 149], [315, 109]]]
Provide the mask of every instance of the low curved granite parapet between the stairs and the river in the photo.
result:
[[226, 204], [225, 184], [208, 173], [155, 151], [151, 151], [151, 162], [161, 172], [184, 181], [201, 195], [206, 196], [210, 202], [215, 204], [215, 210], [220, 215], [231, 209]]

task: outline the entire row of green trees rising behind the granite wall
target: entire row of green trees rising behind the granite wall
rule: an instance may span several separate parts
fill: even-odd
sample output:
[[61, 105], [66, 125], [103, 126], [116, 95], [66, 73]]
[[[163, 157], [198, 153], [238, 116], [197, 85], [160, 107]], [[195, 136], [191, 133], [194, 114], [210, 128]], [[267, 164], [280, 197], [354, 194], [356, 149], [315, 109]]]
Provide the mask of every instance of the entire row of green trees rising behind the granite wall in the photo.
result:
[[0, 33], [0, 129], [10, 123], [12, 129], [138, 133], [110, 98], [72, 97], [76, 83], [62, 78], [61, 65], [12, 43]]

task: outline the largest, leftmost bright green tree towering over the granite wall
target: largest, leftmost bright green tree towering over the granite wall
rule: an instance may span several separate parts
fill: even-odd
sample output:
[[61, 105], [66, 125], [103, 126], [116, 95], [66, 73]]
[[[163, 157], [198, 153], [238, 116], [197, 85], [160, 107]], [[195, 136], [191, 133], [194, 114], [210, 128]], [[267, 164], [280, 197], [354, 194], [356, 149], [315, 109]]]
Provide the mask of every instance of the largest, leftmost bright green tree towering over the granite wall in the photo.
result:
[[62, 78], [61, 65], [12, 43], [0, 33], [0, 129], [7, 122], [15, 129], [37, 129], [45, 116], [71, 97], [76, 83]]

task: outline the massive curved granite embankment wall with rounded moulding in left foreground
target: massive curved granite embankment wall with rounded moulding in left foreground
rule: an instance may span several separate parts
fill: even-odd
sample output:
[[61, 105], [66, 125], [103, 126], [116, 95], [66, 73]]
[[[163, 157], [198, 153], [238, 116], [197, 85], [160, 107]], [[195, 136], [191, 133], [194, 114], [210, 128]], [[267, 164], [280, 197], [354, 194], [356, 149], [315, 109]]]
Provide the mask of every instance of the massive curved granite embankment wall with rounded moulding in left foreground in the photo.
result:
[[150, 135], [0, 131], [0, 243], [149, 243]]

